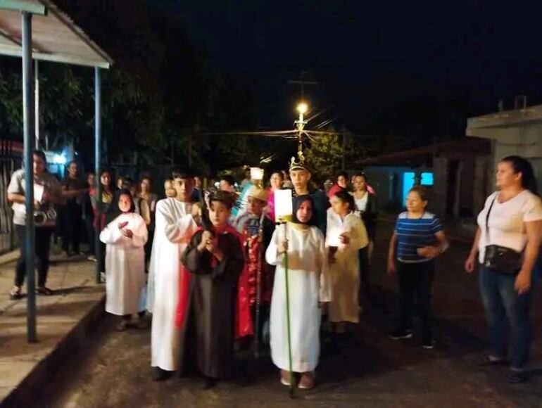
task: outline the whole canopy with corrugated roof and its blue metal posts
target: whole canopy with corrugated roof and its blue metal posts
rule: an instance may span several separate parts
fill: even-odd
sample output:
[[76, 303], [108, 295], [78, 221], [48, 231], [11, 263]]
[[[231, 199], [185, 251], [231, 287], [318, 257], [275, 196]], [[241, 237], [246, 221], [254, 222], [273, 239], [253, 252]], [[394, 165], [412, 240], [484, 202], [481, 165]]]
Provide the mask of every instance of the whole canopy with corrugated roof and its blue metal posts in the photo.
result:
[[[32, 21], [34, 20], [34, 21]], [[34, 23], [34, 24], [33, 24]], [[32, 25], [34, 27], [32, 27]], [[110, 68], [113, 60], [77, 27], [68, 15], [50, 0], [0, 0], [0, 55], [23, 59], [23, 140], [24, 160], [32, 162], [34, 153], [34, 106], [32, 105], [32, 59], [56, 63], [85, 65], [94, 68], [94, 149], [96, 174], [101, 162], [101, 68]], [[25, 167], [25, 184], [34, 184], [34, 174]], [[101, 196], [101, 183], [96, 177], [96, 196]], [[34, 211], [33, 189], [25, 189], [27, 214]], [[101, 206], [97, 208], [101, 217]], [[101, 257], [99, 229], [95, 236], [96, 257]], [[21, 243], [22, 244], [22, 243]], [[27, 217], [25, 226], [25, 269], [27, 277], [27, 339], [37, 342], [34, 217]], [[96, 283], [100, 281], [96, 262]]]

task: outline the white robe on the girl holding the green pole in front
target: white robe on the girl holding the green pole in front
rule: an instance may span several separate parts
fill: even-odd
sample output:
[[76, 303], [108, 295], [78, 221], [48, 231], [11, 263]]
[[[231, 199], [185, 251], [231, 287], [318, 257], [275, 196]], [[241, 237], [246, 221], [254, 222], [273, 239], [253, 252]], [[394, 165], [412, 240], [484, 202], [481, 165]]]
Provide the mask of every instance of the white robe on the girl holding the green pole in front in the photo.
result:
[[[331, 300], [324, 236], [317, 227], [297, 229], [288, 223], [288, 281], [292, 369], [313, 371], [320, 355], [319, 302]], [[270, 346], [273, 363], [289, 370], [288, 331], [286, 324], [285, 257], [277, 255], [284, 226], [277, 227], [265, 252], [267, 263], [277, 265], [271, 300]]]

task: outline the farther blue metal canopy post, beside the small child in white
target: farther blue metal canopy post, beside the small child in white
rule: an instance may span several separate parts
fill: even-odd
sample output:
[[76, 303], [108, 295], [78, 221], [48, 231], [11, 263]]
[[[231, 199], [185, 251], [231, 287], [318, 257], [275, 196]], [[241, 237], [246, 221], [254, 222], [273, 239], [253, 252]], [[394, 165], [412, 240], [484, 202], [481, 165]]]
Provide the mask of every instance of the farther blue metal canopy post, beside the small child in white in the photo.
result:
[[96, 236], [94, 236], [94, 248], [96, 252], [96, 283], [100, 283], [100, 264], [101, 264], [101, 181], [100, 181], [100, 162], [101, 162], [101, 70], [94, 68], [94, 158], [96, 171]]

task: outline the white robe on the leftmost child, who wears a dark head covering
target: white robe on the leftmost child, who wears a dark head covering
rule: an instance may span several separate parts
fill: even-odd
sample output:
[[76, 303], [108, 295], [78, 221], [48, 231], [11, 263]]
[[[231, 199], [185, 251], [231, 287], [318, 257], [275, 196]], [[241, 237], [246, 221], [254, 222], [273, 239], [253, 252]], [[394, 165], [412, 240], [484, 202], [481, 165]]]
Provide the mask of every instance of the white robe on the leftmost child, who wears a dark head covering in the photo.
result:
[[[125, 229], [132, 238], [122, 235], [118, 224], [127, 222]], [[139, 312], [139, 295], [145, 284], [145, 250], [147, 227], [144, 219], [132, 212], [121, 214], [100, 233], [106, 244], [106, 312], [123, 316]]]

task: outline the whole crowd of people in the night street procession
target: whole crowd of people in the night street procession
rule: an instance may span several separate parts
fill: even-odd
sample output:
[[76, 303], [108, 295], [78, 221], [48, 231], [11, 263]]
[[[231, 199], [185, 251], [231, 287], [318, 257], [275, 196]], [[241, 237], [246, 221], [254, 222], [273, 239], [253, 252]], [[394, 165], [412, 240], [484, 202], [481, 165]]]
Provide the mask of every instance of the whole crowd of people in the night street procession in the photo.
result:
[[[89, 241], [85, 255], [96, 260], [98, 229], [103, 257], [96, 262], [106, 282], [106, 311], [118, 316], [119, 331], [144, 328], [151, 321], [156, 381], [197, 371], [205, 379], [204, 388], [211, 388], [232, 376], [235, 350], [258, 353], [269, 348], [279, 381], [313, 388], [322, 329], [332, 340], [345, 336], [370, 301], [378, 203], [363, 172], [351, 179], [341, 173], [327, 189], [313, 189], [300, 155], [299, 160], [292, 158], [288, 172], [272, 172], [267, 188], [247, 172], [238, 193], [232, 176], [221, 177], [218, 189], [205, 190], [201, 179], [184, 170], [165, 180], [165, 198], [159, 200], [149, 177], [139, 182], [119, 177], [113, 187], [111, 173], [103, 170], [97, 197], [94, 174], [87, 184], [81, 183], [76, 162], [70, 163], [62, 182], [46, 172], [45, 165], [42, 152], [34, 152], [34, 179], [42, 186], [34, 207], [46, 213], [52, 205], [63, 204], [58, 222], [65, 256], [80, 251], [78, 231], [84, 227]], [[498, 191], [479, 215], [465, 269], [473, 272], [475, 264], [481, 264], [479, 286], [491, 352], [480, 364], [507, 362], [508, 319], [510, 381], [522, 382], [531, 345], [530, 288], [542, 205], [532, 167], [523, 158], [500, 162], [496, 186]], [[277, 191], [282, 189], [291, 189], [288, 219], [277, 218]], [[13, 174], [8, 198], [23, 242], [23, 170]], [[408, 193], [406, 210], [398, 215], [390, 239], [387, 272], [397, 276], [399, 293], [397, 326], [390, 338], [412, 338], [412, 315], [417, 313], [420, 345], [431, 349], [435, 259], [448, 248], [448, 240], [441, 220], [427, 211], [428, 203], [424, 187]], [[36, 227], [40, 295], [53, 293], [46, 287], [46, 275], [55, 223], [56, 217], [46, 217]], [[21, 252], [13, 299], [20, 298], [25, 277]]]

